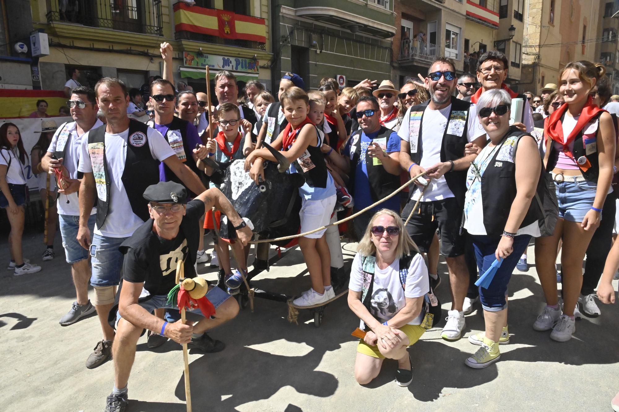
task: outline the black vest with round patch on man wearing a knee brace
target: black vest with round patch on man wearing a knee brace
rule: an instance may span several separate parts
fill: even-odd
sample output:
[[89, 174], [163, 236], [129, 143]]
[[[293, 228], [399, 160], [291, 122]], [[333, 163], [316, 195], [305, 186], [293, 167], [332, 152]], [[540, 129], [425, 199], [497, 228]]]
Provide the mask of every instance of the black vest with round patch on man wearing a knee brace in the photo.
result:
[[[110, 207], [111, 183], [105, 154], [105, 127], [106, 125], [104, 124], [97, 127], [97, 129], [92, 129], [88, 134], [88, 148], [90, 161], [93, 163], [93, 171], [95, 171], [94, 166], [97, 164], [97, 161], [101, 162], [97, 152], [103, 153], [103, 176], [98, 177], [95, 174], [95, 184], [100, 184], [96, 183], [97, 180], [103, 179], [106, 192], [105, 200], [98, 199], [97, 203], [98, 228], [103, 227]], [[126, 143], [127, 155], [123, 176], [121, 177], [129, 204], [131, 204], [131, 210], [144, 221], [149, 219], [149, 202], [142, 197], [142, 194], [151, 184], [159, 182], [159, 161], [150, 154], [148, 131], [149, 127], [144, 123], [129, 119], [129, 135]], [[132, 144], [132, 142], [134, 143]], [[93, 147], [93, 145], [98, 145], [98, 147]], [[118, 179], [118, 176], [115, 176], [115, 178]]]

